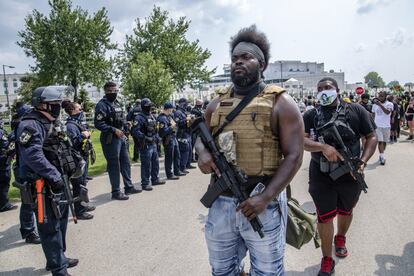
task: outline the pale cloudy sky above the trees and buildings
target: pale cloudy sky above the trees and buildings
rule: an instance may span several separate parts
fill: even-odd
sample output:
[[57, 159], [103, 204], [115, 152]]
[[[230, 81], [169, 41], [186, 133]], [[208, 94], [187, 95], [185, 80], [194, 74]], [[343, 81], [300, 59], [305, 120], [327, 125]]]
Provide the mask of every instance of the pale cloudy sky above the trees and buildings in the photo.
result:
[[[188, 39], [212, 55], [209, 68], [222, 73], [229, 63], [230, 37], [256, 24], [271, 42], [271, 61], [324, 62], [345, 72], [348, 83], [377, 71], [385, 82], [414, 82], [414, 1], [412, 0], [72, 0], [90, 13], [102, 7], [112, 22], [113, 42], [122, 44], [137, 18], [154, 5], [172, 18], [191, 21]], [[17, 46], [18, 31], [33, 9], [47, 14], [46, 0], [0, 0], [0, 63], [27, 72], [33, 60]]]

